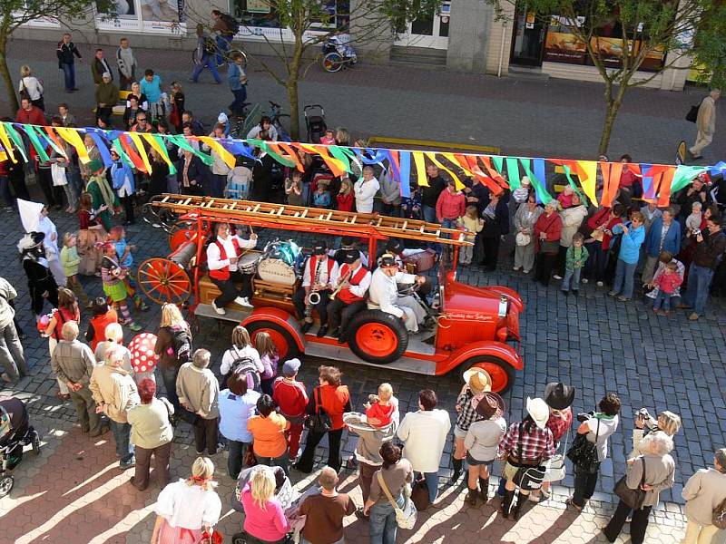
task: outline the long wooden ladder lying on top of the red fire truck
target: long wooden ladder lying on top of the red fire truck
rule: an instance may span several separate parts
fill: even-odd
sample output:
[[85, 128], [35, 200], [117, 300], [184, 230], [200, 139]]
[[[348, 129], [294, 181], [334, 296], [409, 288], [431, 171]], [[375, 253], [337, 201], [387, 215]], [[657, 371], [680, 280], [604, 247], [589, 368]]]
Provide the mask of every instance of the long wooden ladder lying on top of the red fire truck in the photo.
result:
[[334, 209], [305, 208], [287, 204], [273, 204], [252, 200], [215, 199], [165, 193], [148, 206], [169, 209], [174, 214], [198, 214], [211, 221], [239, 221], [257, 227], [314, 230], [316, 227], [338, 228], [340, 235], [407, 238], [437, 242], [452, 246], [472, 245], [466, 232], [456, 228], [442, 228], [437, 223], [417, 219], [392, 218], [378, 213], [357, 213]]

